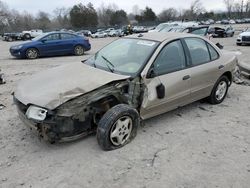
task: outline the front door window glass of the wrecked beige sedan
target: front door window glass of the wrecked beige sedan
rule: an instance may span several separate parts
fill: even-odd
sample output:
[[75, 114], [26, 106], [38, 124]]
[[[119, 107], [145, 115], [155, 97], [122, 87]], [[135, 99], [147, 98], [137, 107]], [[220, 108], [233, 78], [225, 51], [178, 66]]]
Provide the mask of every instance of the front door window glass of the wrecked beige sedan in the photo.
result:
[[179, 40], [167, 44], [154, 62], [157, 76], [185, 68], [185, 54]]

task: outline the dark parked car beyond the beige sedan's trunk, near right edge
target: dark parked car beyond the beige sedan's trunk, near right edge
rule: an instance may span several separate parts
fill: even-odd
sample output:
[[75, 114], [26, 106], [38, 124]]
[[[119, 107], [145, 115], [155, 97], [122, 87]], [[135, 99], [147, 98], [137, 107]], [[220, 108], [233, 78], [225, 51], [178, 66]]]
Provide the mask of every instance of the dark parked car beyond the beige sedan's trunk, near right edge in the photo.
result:
[[213, 37], [233, 37], [235, 30], [232, 26], [228, 27], [211, 27], [208, 33]]

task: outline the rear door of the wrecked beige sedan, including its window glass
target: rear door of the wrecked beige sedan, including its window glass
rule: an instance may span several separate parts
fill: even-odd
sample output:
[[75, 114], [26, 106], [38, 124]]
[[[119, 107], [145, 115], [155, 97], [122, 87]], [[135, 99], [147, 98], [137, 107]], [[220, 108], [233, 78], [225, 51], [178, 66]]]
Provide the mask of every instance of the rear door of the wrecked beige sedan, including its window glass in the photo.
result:
[[219, 53], [201, 38], [184, 39], [191, 58], [191, 97], [193, 101], [210, 95], [223, 66]]

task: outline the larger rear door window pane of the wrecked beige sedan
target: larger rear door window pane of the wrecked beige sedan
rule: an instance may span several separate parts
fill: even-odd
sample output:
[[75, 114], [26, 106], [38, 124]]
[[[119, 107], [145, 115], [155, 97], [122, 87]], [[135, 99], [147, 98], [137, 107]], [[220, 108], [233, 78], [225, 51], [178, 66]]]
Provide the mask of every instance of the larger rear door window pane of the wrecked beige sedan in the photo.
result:
[[210, 61], [210, 55], [206, 42], [199, 38], [186, 38], [185, 42], [189, 49], [192, 64], [201, 65]]

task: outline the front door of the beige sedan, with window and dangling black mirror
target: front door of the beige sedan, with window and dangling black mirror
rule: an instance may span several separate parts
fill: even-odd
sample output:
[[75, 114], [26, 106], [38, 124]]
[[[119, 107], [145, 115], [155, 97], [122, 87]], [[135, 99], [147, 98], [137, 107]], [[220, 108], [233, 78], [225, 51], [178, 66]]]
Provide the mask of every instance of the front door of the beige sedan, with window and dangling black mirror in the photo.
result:
[[141, 105], [143, 119], [191, 102], [191, 73], [186, 59], [180, 40], [168, 43], [160, 51], [149, 70], [150, 73], [144, 79], [146, 87]]

